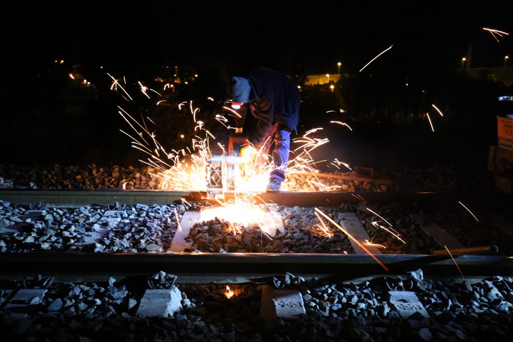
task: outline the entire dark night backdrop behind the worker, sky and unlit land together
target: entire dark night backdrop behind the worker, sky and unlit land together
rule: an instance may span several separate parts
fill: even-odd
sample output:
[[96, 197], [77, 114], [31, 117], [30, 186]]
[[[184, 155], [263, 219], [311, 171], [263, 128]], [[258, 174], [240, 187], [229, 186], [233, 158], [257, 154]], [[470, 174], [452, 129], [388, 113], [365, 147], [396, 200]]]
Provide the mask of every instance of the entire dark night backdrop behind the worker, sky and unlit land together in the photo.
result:
[[[118, 105], [152, 118], [161, 143], [180, 149], [189, 145], [194, 125], [176, 104], [194, 100], [207, 127], [220, 131], [212, 116], [222, 110], [229, 76], [265, 66], [301, 84], [307, 74], [337, 73], [342, 62], [344, 77], [334, 92], [302, 88], [299, 133], [324, 127], [318, 136], [331, 140], [316, 158], [396, 170], [453, 164], [482, 171], [488, 146], [496, 144], [496, 115], [513, 113], [497, 97], [513, 90], [470, 78], [460, 70], [461, 58], [469, 45], [472, 67], [501, 67], [505, 55], [513, 57], [513, 37], [498, 43], [482, 30], [513, 32], [511, 10], [506, 1], [11, 5], [5, 12], [11, 20], [1, 24], [0, 162], [135, 165], [144, 156], [119, 132], [129, 126]], [[146, 98], [137, 81], [161, 92], [175, 66], [182, 84], [156, 106], [161, 98], [151, 92]], [[107, 72], [125, 76], [132, 102], [110, 90]], [[69, 73], [91, 84], [77, 86]], [[199, 77], [192, 80], [194, 74]]]

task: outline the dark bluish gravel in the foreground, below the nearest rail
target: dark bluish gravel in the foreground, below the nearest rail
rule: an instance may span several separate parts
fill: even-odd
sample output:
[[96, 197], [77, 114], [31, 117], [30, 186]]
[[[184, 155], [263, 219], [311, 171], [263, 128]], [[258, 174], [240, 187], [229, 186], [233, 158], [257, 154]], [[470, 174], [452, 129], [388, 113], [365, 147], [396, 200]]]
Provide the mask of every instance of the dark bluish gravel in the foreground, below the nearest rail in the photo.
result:
[[[168, 279], [159, 272], [150, 277]], [[42, 279], [43, 281], [45, 279]], [[105, 283], [52, 284], [33, 315], [13, 320], [0, 313], [5, 341], [510, 341], [513, 280], [499, 276], [477, 283], [461, 279], [423, 280], [422, 271], [402, 276], [429, 318], [402, 318], [388, 302], [385, 282], [321, 282], [299, 285], [306, 315], [265, 322], [259, 316], [261, 288], [234, 285], [228, 299], [222, 285], [180, 285], [183, 309], [172, 317], [137, 318], [144, 279]], [[134, 283], [136, 281], [136, 283]], [[161, 283], [161, 288], [170, 285]], [[2, 281], [11, 293], [21, 281]], [[41, 281], [32, 281], [38, 288]], [[1, 309], [1, 308], [0, 308]]]

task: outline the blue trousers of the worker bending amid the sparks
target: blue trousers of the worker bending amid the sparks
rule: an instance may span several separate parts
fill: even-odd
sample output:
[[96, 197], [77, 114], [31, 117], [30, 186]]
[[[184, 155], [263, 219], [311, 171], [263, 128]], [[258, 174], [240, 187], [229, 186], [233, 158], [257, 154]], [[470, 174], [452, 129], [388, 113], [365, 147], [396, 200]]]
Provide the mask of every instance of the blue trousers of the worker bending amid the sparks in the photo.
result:
[[264, 144], [262, 153], [264, 155], [269, 154], [272, 143], [274, 143], [272, 149], [274, 169], [271, 171], [269, 178], [278, 178], [280, 182], [283, 182], [290, 151], [290, 131], [283, 129], [278, 123], [273, 124], [262, 141], [262, 144]]

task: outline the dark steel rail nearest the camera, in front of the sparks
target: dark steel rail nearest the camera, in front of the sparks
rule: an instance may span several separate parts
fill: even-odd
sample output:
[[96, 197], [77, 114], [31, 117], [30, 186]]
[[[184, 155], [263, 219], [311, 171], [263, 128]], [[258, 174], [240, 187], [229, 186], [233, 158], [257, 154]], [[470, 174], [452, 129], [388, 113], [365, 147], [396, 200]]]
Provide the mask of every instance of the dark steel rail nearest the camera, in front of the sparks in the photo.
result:
[[[421, 268], [428, 276], [459, 277], [450, 256], [379, 255], [386, 272], [369, 255], [272, 253], [0, 253], [0, 275], [109, 272], [176, 275], [223, 274], [258, 278], [285, 272], [324, 274], [352, 279], [368, 275], [404, 274]], [[463, 255], [455, 257], [465, 276], [513, 275], [513, 256]]]

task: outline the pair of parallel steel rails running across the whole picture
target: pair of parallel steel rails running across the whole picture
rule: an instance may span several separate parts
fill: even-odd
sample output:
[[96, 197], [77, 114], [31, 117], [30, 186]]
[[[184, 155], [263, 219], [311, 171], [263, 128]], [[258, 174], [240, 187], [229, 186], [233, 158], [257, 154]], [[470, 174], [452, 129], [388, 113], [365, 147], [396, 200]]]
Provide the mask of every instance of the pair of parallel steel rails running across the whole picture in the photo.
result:
[[[54, 207], [81, 207], [88, 205], [166, 205], [181, 203], [184, 198], [189, 202], [205, 203], [202, 192], [170, 192], [142, 190], [1, 190], [0, 199], [20, 205], [34, 203], [48, 204]], [[360, 198], [359, 198], [360, 197]], [[346, 193], [346, 192], [282, 192], [259, 195], [263, 203], [292, 207], [337, 207], [341, 203], [358, 205], [364, 198], [367, 203], [407, 205], [418, 203], [423, 208], [454, 205], [465, 202], [468, 206], [479, 207], [482, 211], [494, 211], [493, 217], [501, 222], [504, 234], [511, 228], [505, 216], [508, 213], [511, 197], [491, 194], [440, 194], [440, 193]], [[500, 217], [500, 219], [497, 219]], [[344, 219], [344, 218], [343, 218]], [[342, 221], [344, 222], [344, 221]], [[506, 223], [505, 223], [506, 222]], [[436, 225], [435, 225], [436, 226]], [[451, 238], [440, 227], [429, 226], [428, 234], [435, 236], [440, 244], [453, 244], [458, 265], [468, 276], [487, 276], [490, 274], [511, 275], [513, 258], [503, 256], [472, 256], [470, 254], [496, 254], [495, 246], [465, 246]], [[444, 233], [445, 235], [440, 235]], [[437, 236], [440, 235], [440, 236]], [[458, 245], [459, 244], [459, 245]], [[461, 246], [460, 246], [461, 245]], [[460, 249], [458, 249], [460, 247]], [[355, 248], [357, 248], [355, 246]], [[463, 249], [461, 249], [463, 248]], [[70, 251], [73, 249], [70, 249]], [[42, 252], [0, 253], [0, 264], [4, 265], [2, 274], [19, 275], [21, 273], [69, 274], [71, 273], [148, 273], [165, 270], [179, 273], [183, 279], [210, 277], [215, 281], [229, 282], [230, 279], [244, 282], [249, 279], [283, 274], [284, 272], [312, 274], [316, 276], [345, 276], [348, 279], [372, 274], [401, 274], [412, 268], [423, 267], [433, 276], [457, 275], [454, 261], [443, 248], [435, 248], [435, 255], [378, 255], [380, 261], [390, 270], [384, 269], [362, 250], [355, 254], [333, 253], [176, 253], [167, 249], [167, 253], [84, 253], [83, 249], [74, 249], [75, 253]], [[378, 249], [372, 249], [381, 254]], [[76, 253], [78, 252], [78, 253]], [[180, 252], [180, 250], [179, 250]], [[499, 251], [499, 254], [501, 251]], [[229, 272], [226, 272], [229, 270]], [[26, 273], [28, 274], [28, 273]], [[219, 275], [219, 276], [218, 276]]]

